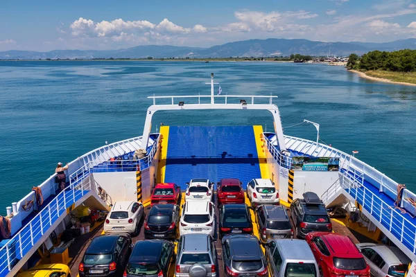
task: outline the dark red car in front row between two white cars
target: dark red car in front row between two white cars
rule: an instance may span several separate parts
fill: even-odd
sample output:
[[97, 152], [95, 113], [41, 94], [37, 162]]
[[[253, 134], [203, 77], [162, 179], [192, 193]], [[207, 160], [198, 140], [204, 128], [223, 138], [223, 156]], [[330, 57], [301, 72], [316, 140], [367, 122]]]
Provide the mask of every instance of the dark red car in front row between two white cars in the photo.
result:
[[221, 179], [217, 183], [218, 204], [244, 203], [244, 191], [239, 179]]

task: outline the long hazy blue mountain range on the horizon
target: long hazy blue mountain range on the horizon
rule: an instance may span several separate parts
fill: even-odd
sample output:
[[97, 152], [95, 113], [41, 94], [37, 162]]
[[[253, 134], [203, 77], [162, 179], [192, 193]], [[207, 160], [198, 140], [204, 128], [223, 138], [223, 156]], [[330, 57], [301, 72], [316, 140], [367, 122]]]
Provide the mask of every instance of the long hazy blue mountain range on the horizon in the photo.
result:
[[270, 57], [291, 54], [345, 56], [351, 53], [362, 55], [368, 51], [395, 51], [416, 49], [416, 39], [401, 39], [395, 42], [313, 42], [307, 39], [249, 39], [229, 42], [209, 48], [147, 45], [117, 50], [55, 50], [49, 52], [3, 51], [1, 60], [39, 59], [92, 59], [92, 58], [141, 58], [141, 57]]

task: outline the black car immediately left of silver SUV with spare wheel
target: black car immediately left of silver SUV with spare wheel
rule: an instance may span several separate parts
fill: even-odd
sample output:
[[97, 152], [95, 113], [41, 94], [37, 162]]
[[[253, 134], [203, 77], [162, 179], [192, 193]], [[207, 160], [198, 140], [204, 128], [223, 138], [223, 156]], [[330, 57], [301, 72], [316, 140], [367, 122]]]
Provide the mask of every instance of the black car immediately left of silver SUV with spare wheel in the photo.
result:
[[123, 276], [169, 276], [169, 265], [171, 265], [172, 258], [175, 258], [174, 249], [175, 244], [168, 240], [136, 242]]

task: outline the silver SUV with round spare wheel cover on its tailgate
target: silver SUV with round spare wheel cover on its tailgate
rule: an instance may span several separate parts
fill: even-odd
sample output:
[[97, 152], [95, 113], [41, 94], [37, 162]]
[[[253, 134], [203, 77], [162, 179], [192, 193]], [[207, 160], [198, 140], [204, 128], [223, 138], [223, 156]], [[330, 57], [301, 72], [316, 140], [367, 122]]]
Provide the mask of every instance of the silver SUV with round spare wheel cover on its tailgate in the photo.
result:
[[[182, 235], [177, 242], [176, 277], [216, 277], [215, 240], [211, 235]], [[197, 275], [198, 274], [198, 275]]]

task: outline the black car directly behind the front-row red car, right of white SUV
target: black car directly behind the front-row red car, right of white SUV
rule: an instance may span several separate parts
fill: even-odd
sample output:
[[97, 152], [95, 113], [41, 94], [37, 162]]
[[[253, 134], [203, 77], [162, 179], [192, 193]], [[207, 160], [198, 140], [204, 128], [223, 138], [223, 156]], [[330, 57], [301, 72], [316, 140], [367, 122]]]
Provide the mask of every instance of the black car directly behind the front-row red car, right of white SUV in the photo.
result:
[[253, 233], [246, 204], [225, 204], [220, 207], [220, 238], [227, 233]]

